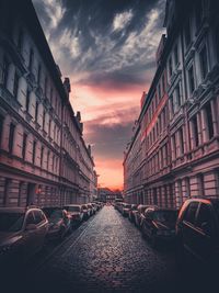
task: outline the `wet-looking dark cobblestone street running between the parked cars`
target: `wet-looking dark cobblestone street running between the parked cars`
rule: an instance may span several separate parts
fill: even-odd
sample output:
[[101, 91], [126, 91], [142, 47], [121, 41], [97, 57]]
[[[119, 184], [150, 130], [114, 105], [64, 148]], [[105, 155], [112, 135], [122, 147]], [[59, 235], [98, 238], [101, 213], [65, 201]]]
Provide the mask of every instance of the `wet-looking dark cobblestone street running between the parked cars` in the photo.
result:
[[85, 224], [33, 273], [34, 288], [58, 292], [174, 292], [177, 278], [171, 251], [152, 249], [112, 206], [105, 206]]

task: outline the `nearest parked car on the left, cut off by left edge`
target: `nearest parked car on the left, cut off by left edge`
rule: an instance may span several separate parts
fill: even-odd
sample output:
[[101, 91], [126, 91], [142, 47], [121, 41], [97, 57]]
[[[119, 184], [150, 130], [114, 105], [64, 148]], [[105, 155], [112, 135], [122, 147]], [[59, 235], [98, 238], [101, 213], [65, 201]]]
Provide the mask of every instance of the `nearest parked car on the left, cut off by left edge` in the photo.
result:
[[48, 221], [37, 207], [0, 209], [0, 266], [26, 261], [39, 251], [48, 230]]

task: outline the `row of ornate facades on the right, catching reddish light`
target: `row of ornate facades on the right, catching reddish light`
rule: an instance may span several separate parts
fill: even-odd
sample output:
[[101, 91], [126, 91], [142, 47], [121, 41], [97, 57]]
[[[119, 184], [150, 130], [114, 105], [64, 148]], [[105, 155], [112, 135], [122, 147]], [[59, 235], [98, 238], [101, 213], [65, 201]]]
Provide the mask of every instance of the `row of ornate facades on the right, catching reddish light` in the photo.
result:
[[131, 203], [178, 209], [219, 196], [217, 0], [168, 0], [157, 71], [124, 158]]

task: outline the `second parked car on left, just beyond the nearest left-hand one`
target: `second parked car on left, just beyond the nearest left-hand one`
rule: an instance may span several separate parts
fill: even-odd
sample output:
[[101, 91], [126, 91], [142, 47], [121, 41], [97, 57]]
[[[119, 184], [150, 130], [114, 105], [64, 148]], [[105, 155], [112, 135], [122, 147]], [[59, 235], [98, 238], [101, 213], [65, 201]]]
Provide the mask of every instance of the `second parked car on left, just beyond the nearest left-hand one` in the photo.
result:
[[47, 238], [62, 240], [71, 229], [71, 217], [68, 212], [57, 206], [43, 207], [42, 210], [48, 219]]

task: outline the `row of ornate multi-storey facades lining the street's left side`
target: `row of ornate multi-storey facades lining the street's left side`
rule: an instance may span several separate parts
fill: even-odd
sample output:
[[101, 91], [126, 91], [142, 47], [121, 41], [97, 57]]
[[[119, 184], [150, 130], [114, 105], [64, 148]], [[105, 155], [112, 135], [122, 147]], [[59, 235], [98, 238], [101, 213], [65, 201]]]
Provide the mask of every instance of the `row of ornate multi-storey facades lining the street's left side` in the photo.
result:
[[97, 177], [30, 0], [0, 2], [0, 206], [83, 203]]

